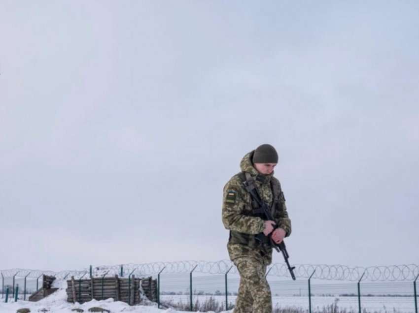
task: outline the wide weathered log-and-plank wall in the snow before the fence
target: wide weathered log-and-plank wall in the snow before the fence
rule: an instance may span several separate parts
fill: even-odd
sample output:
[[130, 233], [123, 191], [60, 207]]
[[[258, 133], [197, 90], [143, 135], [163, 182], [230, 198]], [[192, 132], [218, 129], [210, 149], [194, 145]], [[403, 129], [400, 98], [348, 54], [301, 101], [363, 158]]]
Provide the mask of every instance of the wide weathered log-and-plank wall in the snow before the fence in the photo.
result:
[[[141, 286], [141, 288], [140, 288]], [[157, 280], [149, 278], [91, 277], [85, 280], [76, 280], [71, 277], [67, 281], [67, 301], [84, 303], [96, 300], [113, 298], [129, 305], [139, 304], [141, 301], [140, 289], [151, 301], [157, 301]]]

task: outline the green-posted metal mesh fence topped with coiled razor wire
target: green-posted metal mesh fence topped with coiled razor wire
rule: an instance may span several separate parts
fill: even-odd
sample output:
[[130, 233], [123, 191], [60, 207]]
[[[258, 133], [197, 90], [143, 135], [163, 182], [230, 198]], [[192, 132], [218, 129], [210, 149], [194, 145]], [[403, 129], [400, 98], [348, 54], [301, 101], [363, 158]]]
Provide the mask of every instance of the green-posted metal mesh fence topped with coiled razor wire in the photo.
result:
[[[22, 299], [39, 288], [42, 275], [52, 275], [58, 280], [86, 274], [153, 276], [158, 280], [159, 307], [161, 302], [182, 302], [189, 304], [190, 311], [197, 301], [209, 297], [222, 303], [226, 310], [231, 308], [240, 281], [237, 268], [228, 260], [90, 266], [82, 271], [11, 269], [0, 272], [2, 298], [7, 285], [13, 298]], [[296, 265], [295, 275], [297, 280], [290, 280], [285, 264], [275, 263], [268, 268], [274, 306], [299, 307], [308, 312], [335, 305], [348, 312], [418, 313], [419, 266], [416, 264], [371, 267], [300, 264]], [[20, 293], [16, 291], [17, 285], [24, 286]]]

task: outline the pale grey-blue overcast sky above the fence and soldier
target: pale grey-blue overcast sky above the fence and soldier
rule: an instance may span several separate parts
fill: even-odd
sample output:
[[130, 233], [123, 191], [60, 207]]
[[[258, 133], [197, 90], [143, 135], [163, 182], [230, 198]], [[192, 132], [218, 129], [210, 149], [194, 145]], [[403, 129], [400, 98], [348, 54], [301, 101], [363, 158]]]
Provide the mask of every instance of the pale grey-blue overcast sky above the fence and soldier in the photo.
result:
[[264, 143], [291, 263], [418, 264], [418, 51], [417, 1], [2, 0], [0, 269], [227, 259]]

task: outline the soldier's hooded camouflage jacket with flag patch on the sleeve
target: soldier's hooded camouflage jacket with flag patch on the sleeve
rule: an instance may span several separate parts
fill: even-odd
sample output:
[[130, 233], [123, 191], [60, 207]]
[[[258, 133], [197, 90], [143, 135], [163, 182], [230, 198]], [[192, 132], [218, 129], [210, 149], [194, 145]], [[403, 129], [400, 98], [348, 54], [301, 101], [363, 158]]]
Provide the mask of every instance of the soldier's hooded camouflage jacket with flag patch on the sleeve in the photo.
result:
[[[227, 249], [231, 260], [250, 256], [269, 265], [272, 262], [272, 248], [266, 243], [256, 241], [255, 235], [263, 232], [264, 220], [254, 216], [250, 193], [244, 188], [241, 175], [249, 173], [262, 198], [273, 209], [273, 217], [280, 228], [291, 234], [291, 220], [285, 206], [285, 198], [278, 179], [273, 174], [260, 174], [251, 162], [254, 151], [246, 154], [240, 162], [241, 173], [234, 175], [224, 186], [222, 220], [224, 227], [230, 230]], [[272, 182], [271, 182], [272, 181]], [[276, 188], [276, 192], [272, 190]]]

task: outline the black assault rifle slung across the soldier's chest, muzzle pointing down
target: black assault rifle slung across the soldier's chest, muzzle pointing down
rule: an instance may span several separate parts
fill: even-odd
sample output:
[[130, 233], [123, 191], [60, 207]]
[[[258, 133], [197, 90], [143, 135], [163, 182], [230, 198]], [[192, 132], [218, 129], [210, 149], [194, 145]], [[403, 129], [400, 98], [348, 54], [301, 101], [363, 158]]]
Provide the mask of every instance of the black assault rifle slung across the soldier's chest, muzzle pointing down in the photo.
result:
[[[274, 220], [274, 218], [272, 216], [272, 213], [271, 213], [271, 210], [268, 208], [268, 205], [264, 201], [262, 201], [262, 199], [260, 198], [259, 193], [257, 192], [257, 189], [255, 188], [253, 183], [249, 183], [249, 181], [244, 181], [243, 184], [244, 184], [244, 187], [247, 189], [247, 191], [250, 192], [252, 198], [259, 205], [259, 209], [257, 210], [258, 213], [260, 213], [266, 220]], [[279, 227], [277, 224], [275, 224], [275, 225], [273, 224], [273, 226], [274, 226], [274, 230]], [[286, 263], [286, 266], [288, 267], [288, 271], [291, 274], [292, 279], [295, 281], [295, 275], [294, 275], [295, 266], [289, 265], [289, 262], [288, 262], [289, 255], [288, 255], [288, 252], [286, 250], [285, 243], [282, 240], [279, 244], [276, 244], [272, 240], [272, 233], [273, 232], [274, 231], [272, 231], [268, 235], [269, 241], [271, 242], [272, 247], [274, 247], [274, 249], [277, 250], [277, 252], [279, 252], [279, 251], [282, 252], [282, 255], [283, 255], [285, 263]], [[263, 242], [264, 238], [265, 238], [264, 233], [260, 233], [260, 234], [256, 235], [256, 240], [258, 240], [260, 242]]]

